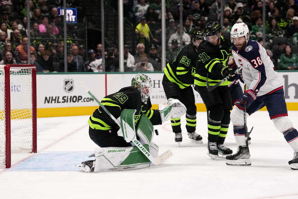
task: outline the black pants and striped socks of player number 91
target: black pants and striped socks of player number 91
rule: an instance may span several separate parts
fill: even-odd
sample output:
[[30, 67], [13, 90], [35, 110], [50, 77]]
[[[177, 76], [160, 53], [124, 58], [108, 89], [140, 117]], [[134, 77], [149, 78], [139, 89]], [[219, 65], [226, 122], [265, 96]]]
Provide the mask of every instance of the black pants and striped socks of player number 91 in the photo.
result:
[[230, 124], [230, 110], [232, 99], [228, 86], [218, 86], [208, 91], [205, 86], [196, 86], [208, 115], [208, 140], [224, 143]]

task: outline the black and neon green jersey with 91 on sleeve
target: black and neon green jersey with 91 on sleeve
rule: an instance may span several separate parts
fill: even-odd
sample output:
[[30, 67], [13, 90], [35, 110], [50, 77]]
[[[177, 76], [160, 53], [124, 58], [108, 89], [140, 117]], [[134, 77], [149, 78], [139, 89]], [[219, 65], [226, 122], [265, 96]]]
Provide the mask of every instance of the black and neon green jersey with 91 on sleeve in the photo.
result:
[[[233, 43], [231, 42], [230, 33], [222, 33], [220, 40], [221, 42], [217, 46], [205, 40], [199, 45], [200, 60], [196, 65], [195, 85], [206, 86], [207, 73], [210, 86], [215, 85], [224, 78], [221, 75], [221, 69], [228, 65]], [[230, 81], [225, 81], [220, 86], [226, 86], [230, 83]]]

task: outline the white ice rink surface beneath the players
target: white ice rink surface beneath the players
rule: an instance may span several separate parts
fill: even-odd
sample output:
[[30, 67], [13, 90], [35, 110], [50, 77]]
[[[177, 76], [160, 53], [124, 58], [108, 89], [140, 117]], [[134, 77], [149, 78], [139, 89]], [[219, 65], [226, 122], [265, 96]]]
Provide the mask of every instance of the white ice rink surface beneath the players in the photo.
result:
[[[0, 167], [0, 198], [298, 198], [298, 170], [288, 161], [293, 150], [275, 129], [267, 111], [247, 120], [251, 133], [251, 166], [227, 166], [207, 155], [206, 113], [197, 113], [197, 130], [203, 144], [187, 137], [174, 142], [170, 122], [155, 126], [153, 141], [160, 153], [173, 156], [146, 169], [85, 173], [75, 167], [97, 147], [88, 136], [88, 115], [38, 118], [38, 153], [12, 154], [12, 167]], [[298, 111], [289, 111], [298, 128]], [[230, 124], [225, 145], [237, 150]]]

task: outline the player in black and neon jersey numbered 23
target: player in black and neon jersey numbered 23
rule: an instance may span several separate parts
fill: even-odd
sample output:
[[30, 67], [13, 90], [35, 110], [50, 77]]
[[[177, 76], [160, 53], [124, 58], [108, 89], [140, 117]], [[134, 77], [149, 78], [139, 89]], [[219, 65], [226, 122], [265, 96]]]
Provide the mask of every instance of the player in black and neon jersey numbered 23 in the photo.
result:
[[[197, 48], [202, 40], [202, 32], [195, 32], [192, 35], [192, 43], [183, 47], [177, 57], [167, 63], [162, 80], [167, 99], [179, 99], [186, 106], [187, 134], [190, 139], [198, 143], [202, 143], [202, 137], [195, 132], [196, 104], [191, 85], [194, 83], [196, 62], [199, 59]], [[175, 141], [180, 144], [182, 141], [180, 118], [171, 118], [171, 125]]]

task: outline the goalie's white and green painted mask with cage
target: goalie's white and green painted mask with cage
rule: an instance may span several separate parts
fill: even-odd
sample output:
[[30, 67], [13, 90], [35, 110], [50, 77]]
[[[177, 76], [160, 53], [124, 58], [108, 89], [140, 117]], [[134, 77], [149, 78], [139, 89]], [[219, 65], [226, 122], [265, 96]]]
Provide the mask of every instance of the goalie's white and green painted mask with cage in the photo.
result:
[[152, 81], [150, 77], [144, 73], [138, 73], [131, 80], [131, 86], [137, 88], [141, 92], [142, 102], [146, 104], [152, 90]]

